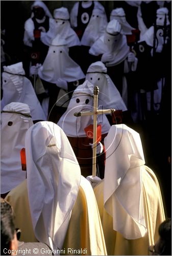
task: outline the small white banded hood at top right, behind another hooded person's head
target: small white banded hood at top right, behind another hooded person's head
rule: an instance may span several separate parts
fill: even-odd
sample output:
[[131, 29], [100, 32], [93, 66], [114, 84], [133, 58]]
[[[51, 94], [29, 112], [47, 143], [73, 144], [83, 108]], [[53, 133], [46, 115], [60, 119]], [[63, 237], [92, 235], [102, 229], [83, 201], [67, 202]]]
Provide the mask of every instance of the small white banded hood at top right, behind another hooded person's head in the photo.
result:
[[122, 28], [122, 34], [125, 35], [131, 35], [132, 30], [134, 30], [133, 27], [130, 26], [130, 24], [126, 20], [126, 14], [123, 8], [116, 8], [111, 11], [110, 14], [110, 20], [116, 19], [121, 25]]

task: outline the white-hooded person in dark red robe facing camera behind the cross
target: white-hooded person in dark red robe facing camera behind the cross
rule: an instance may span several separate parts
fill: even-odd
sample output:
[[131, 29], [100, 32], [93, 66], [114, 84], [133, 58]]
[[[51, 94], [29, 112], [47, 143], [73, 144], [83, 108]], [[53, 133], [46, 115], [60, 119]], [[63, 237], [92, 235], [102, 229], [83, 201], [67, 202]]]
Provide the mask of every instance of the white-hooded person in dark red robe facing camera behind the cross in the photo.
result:
[[[74, 114], [80, 111], [93, 111], [93, 90], [94, 86], [89, 81], [81, 84], [73, 92], [66, 112], [57, 123], [67, 135], [84, 177], [92, 172], [92, 139], [87, 137], [85, 129], [93, 125], [93, 116], [76, 117]], [[103, 142], [110, 129], [106, 115], [97, 115], [97, 125], [101, 125]]]

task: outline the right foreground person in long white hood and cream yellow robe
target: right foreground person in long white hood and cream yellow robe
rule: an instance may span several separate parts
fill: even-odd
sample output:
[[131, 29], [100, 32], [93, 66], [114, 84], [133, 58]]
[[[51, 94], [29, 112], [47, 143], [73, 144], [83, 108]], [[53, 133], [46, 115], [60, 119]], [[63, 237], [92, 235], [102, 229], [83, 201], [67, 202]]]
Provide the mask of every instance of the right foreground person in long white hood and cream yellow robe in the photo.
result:
[[105, 178], [94, 187], [108, 255], [146, 255], [165, 220], [158, 180], [145, 166], [140, 136], [125, 124], [105, 138]]

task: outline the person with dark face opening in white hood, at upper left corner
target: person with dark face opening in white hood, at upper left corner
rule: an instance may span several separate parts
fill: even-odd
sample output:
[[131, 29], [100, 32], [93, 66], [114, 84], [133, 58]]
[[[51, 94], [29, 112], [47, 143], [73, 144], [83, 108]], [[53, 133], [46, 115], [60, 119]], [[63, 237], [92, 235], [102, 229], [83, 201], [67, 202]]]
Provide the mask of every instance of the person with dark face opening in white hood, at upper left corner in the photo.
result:
[[55, 37], [55, 21], [47, 6], [42, 1], [35, 1], [31, 6], [31, 17], [24, 23], [23, 68], [27, 76], [30, 66], [43, 63], [50, 41]]

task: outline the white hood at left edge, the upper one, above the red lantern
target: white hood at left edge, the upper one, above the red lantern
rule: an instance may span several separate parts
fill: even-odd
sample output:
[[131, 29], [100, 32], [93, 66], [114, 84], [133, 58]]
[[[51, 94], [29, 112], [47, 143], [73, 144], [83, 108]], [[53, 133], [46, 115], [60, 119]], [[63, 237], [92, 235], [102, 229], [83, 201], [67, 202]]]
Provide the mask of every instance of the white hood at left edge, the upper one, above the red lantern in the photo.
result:
[[24, 76], [25, 72], [22, 62], [4, 66], [3, 68], [3, 98], [1, 100], [1, 109], [11, 102], [22, 102], [29, 105], [32, 120], [46, 120], [32, 83]]

